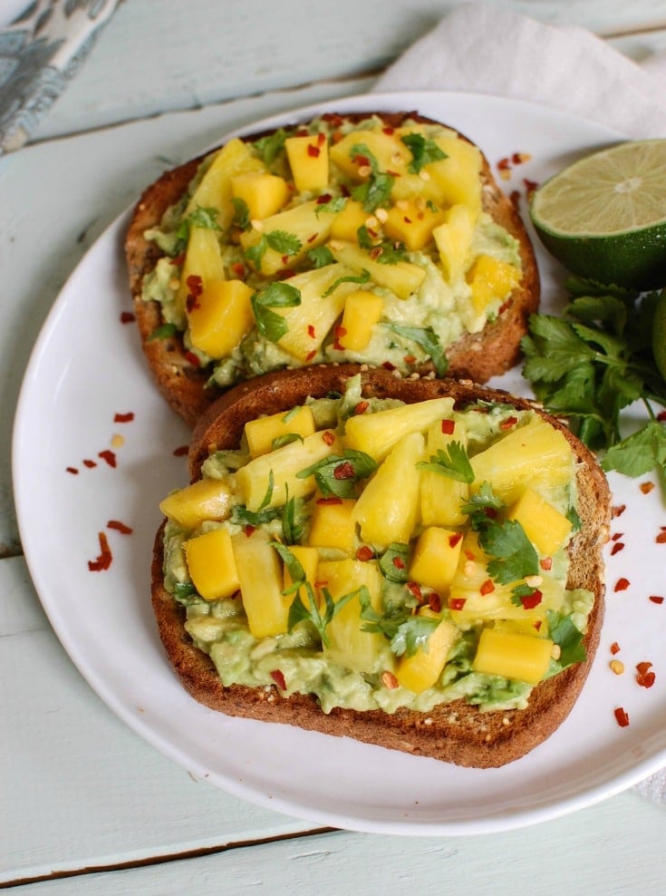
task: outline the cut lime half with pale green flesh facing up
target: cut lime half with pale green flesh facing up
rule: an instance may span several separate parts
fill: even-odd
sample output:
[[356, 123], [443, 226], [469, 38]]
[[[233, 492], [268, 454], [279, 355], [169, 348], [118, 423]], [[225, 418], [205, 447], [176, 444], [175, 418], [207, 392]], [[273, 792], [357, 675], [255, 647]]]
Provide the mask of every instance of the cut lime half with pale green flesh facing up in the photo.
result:
[[572, 273], [666, 286], [666, 140], [620, 143], [574, 162], [534, 191], [530, 217]]

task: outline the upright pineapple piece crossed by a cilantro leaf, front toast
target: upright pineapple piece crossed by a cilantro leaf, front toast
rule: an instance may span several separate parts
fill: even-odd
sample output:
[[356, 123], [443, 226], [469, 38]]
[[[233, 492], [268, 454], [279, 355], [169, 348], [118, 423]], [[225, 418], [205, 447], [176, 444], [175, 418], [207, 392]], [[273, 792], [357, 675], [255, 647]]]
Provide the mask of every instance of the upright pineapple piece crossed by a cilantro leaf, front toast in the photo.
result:
[[[442, 421], [431, 424], [426, 435], [426, 461], [436, 456], [439, 450], [446, 451], [451, 442], [467, 447], [468, 437], [465, 424], [461, 420], [447, 421], [452, 425], [452, 432], [442, 432]], [[420, 521], [424, 526], [444, 526], [454, 529], [464, 525], [467, 516], [462, 512], [462, 505], [467, 502], [469, 486], [467, 482], [458, 482], [439, 472], [421, 471], [420, 480]]]

